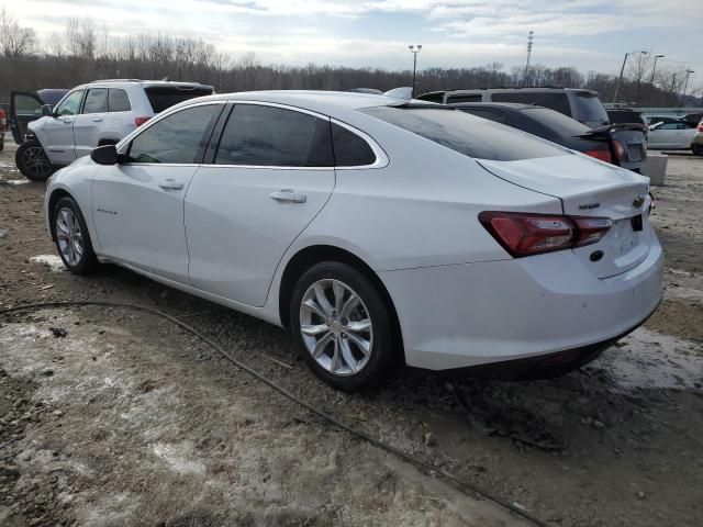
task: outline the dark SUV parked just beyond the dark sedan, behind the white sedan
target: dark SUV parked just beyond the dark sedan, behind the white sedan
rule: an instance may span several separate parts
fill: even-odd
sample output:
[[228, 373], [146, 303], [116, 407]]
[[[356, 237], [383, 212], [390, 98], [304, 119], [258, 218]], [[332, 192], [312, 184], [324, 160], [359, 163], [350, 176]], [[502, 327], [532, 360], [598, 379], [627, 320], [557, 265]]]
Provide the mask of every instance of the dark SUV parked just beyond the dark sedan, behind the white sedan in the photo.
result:
[[423, 101], [453, 104], [459, 102], [518, 102], [555, 110], [591, 128], [610, 124], [598, 92], [574, 88], [490, 88], [482, 90], [445, 90], [424, 93]]

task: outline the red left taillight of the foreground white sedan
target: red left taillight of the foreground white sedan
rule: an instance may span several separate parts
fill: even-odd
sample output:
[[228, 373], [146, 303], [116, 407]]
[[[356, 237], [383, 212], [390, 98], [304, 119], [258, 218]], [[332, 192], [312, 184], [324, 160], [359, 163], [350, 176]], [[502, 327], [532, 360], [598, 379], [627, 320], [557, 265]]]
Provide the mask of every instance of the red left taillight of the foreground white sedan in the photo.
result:
[[515, 258], [595, 244], [613, 225], [607, 217], [490, 211], [479, 221]]

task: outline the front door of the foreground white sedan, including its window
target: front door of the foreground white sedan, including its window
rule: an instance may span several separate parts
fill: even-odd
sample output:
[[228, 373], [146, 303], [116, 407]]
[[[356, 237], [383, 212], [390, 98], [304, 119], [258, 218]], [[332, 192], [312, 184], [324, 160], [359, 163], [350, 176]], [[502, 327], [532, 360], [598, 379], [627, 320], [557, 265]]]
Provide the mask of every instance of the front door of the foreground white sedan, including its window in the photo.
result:
[[223, 104], [187, 108], [155, 121], [101, 167], [92, 214], [101, 254], [170, 280], [188, 281], [183, 197]]

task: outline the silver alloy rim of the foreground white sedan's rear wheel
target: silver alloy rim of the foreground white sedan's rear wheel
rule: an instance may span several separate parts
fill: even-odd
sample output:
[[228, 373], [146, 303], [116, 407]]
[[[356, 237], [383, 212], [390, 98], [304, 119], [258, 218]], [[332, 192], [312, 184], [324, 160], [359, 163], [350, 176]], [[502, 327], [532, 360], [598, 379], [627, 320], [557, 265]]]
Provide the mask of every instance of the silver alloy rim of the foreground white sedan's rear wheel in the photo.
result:
[[339, 280], [317, 280], [308, 288], [300, 304], [300, 333], [313, 359], [334, 375], [358, 373], [373, 349], [369, 311]]

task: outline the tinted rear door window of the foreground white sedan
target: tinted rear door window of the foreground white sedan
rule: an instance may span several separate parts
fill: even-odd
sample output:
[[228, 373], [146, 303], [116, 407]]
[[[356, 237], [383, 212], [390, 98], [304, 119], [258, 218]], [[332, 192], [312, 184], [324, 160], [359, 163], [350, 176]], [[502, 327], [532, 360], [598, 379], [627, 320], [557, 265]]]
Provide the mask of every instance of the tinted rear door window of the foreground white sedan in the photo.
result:
[[332, 167], [330, 121], [282, 108], [236, 104], [215, 165]]

